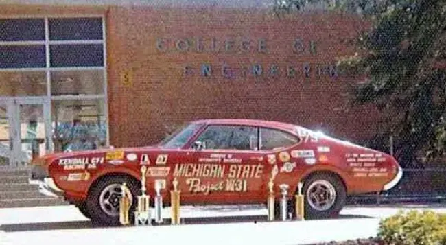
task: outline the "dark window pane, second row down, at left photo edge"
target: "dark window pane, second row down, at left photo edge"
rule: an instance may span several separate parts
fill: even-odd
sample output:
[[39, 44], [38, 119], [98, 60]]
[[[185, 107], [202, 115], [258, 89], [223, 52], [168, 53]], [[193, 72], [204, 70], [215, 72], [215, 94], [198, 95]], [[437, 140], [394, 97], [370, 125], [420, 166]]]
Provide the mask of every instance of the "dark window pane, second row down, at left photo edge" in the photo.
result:
[[0, 68], [45, 67], [45, 45], [0, 46]]

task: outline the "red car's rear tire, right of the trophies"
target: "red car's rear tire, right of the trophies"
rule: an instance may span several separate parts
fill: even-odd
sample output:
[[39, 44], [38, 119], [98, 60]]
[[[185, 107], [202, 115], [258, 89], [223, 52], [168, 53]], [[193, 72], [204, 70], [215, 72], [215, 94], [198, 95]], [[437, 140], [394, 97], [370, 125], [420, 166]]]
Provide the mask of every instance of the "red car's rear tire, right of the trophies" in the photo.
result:
[[[325, 192], [322, 193], [330, 194], [331, 197], [333, 197], [328, 198], [332, 201], [328, 202], [325, 207], [321, 207], [323, 205], [318, 206], [317, 202], [315, 201], [316, 195], [313, 194], [319, 192], [318, 187], [325, 189]], [[333, 174], [323, 173], [310, 176], [309, 178], [307, 178], [307, 180], [305, 180], [302, 190], [303, 194], [305, 194], [304, 213], [306, 220], [336, 218], [339, 215], [341, 209], [344, 207], [345, 201], [347, 199], [347, 193], [342, 180], [340, 180], [338, 176]], [[325, 197], [328, 197], [330, 195], [325, 195]], [[322, 200], [327, 200], [327, 198], [322, 198]], [[316, 208], [315, 206], [318, 208]]]

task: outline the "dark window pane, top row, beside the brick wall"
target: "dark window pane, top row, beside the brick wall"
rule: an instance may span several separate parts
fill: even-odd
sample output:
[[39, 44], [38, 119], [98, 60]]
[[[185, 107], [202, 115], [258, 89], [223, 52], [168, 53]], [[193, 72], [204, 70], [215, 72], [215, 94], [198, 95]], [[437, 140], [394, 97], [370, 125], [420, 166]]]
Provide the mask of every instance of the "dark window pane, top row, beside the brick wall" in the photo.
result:
[[102, 40], [102, 18], [49, 19], [49, 40]]

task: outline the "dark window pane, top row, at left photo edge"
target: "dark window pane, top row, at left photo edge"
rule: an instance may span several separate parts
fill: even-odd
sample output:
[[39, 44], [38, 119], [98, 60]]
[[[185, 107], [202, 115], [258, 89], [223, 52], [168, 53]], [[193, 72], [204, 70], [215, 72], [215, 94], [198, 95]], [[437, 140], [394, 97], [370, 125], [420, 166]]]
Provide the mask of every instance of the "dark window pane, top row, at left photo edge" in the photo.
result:
[[0, 19], [0, 41], [45, 40], [43, 19]]

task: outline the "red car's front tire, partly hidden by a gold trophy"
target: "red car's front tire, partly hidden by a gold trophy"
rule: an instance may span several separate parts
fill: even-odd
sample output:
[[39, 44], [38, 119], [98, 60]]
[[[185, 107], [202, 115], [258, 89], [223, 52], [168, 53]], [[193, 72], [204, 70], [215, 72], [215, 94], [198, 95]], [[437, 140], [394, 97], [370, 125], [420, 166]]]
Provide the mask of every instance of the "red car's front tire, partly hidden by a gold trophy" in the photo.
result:
[[[130, 189], [130, 210], [129, 220], [132, 224], [134, 222], [134, 209], [137, 205], [137, 196], [139, 190], [139, 183], [134, 178], [127, 176], [105, 176], [97, 181], [89, 191], [86, 199], [86, 210], [91, 215], [93, 224], [100, 224], [106, 226], [120, 226], [119, 222], [119, 185], [126, 183]], [[101, 201], [108, 200], [110, 204]], [[117, 210], [116, 210], [117, 209]]]

